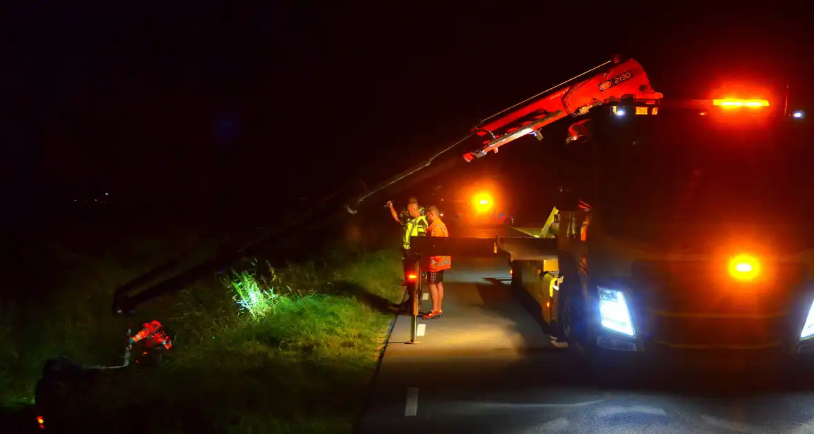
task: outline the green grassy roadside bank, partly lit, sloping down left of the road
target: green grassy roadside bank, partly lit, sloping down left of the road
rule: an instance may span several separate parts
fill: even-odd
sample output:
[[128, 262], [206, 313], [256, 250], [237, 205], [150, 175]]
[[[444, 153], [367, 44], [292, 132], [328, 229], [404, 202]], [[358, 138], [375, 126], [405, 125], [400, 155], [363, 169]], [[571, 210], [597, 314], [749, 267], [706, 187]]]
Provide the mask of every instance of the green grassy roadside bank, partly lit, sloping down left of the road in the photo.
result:
[[[159, 319], [175, 335], [171, 356], [114, 371], [64, 410], [111, 433], [350, 432], [400, 298], [397, 254], [236, 268], [138, 310], [138, 323]], [[47, 305], [0, 306], [5, 406], [33, 401], [46, 358], [120, 363], [126, 328], [111, 290], [68, 286]]]

